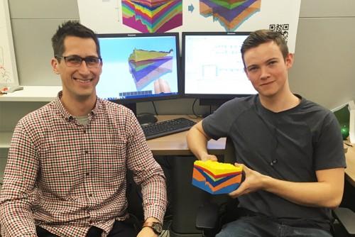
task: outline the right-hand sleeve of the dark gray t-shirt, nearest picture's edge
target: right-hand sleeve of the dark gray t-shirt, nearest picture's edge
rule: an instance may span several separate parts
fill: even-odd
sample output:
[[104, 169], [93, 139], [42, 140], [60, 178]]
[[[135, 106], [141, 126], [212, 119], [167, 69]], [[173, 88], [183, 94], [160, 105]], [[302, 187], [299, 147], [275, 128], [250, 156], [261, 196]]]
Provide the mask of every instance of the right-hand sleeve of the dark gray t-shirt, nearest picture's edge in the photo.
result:
[[331, 112], [324, 117], [319, 139], [315, 142], [314, 158], [315, 170], [346, 167], [342, 133]]

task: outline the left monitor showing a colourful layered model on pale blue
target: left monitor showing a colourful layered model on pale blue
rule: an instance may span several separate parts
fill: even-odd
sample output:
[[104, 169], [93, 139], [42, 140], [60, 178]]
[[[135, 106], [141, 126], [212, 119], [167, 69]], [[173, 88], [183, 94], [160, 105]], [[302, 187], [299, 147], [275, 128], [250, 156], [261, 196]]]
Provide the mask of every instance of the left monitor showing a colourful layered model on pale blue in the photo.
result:
[[178, 95], [178, 33], [99, 34], [98, 97], [144, 101]]

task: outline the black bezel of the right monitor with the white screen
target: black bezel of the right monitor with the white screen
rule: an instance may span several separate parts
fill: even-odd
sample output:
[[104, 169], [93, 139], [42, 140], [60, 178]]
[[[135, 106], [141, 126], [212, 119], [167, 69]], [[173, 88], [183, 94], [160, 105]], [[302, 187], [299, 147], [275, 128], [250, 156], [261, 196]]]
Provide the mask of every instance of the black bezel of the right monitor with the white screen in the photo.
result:
[[221, 101], [226, 101], [236, 97], [249, 97], [253, 94], [186, 94], [185, 93], [185, 39], [187, 35], [250, 35], [249, 31], [236, 31], [236, 32], [209, 32], [209, 31], [200, 31], [200, 32], [182, 32], [182, 60], [181, 60], [181, 87], [182, 93], [185, 98], [195, 98], [195, 99], [217, 99]]

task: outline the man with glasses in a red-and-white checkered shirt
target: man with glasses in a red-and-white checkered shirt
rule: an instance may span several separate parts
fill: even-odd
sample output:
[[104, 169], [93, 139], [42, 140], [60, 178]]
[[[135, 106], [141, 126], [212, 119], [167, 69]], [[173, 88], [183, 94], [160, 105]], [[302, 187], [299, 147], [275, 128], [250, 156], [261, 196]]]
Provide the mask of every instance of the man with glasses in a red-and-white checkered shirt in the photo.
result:
[[163, 170], [134, 114], [97, 98], [96, 35], [67, 21], [52, 43], [62, 92], [15, 128], [0, 196], [2, 236], [136, 236], [127, 221], [127, 169], [142, 189], [146, 221], [138, 236], [158, 236]]

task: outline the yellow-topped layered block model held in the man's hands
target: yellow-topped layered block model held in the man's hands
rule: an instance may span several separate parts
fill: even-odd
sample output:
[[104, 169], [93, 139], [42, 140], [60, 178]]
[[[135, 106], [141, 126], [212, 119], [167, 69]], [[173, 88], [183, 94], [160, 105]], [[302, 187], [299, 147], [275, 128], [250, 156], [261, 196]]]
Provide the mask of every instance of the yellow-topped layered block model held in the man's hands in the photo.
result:
[[241, 166], [212, 160], [196, 160], [192, 184], [211, 194], [227, 194], [239, 187], [242, 170]]

